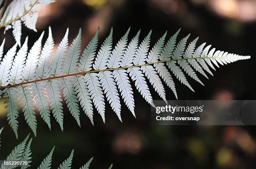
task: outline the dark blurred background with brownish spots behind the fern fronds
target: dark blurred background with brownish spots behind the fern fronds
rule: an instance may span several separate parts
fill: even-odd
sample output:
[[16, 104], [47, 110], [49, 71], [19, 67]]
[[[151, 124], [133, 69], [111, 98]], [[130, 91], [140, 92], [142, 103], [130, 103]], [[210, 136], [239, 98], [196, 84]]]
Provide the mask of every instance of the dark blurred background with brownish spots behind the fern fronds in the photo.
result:
[[[58, 0], [39, 11], [38, 33], [23, 26], [22, 42], [29, 36], [29, 45], [51, 25], [55, 45], [70, 29], [69, 42], [82, 28], [83, 48], [100, 27], [100, 43], [113, 26], [113, 42], [131, 26], [129, 40], [141, 28], [141, 38], [152, 28], [151, 46], [168, 30], [168, 38], [179, 28], [179, 40], [191, 33], [197, 44], [207, 42], [218, 50], [251, 55], [250, 60], [238, 61], [217, 68], [209, 80], [200, 77], [205, 86], [188, 77], [195, 93], [177, 80], [181, 100], [256, 100], [256, 0]], [[3, 31], [3, 30], [1, 30]], [[2, 34], [1, 34], [2, 35]], [[46, 40], [46, 35], [44, 41]], [[2, 40], [3, 37], [0, 38]], [[14, 43], [11, 31], [6, 34], [5, 52]], [[134, 83], [132, 83], [134, 88]], [[155, 100], [160, 99], [150, 86]], [[167, 100], [174, 100], [165, 85]], [[64, 106], [64, 134], [51, 116], [52, 131], [37, 116], [38, 136], [33, 139], [32, 168], [56, 146], [53, 168], [59, 166], [74, 148], [73, 167], [79, 168], [94, 156], [92, 168], [104, 169], [111, 163], [114, 169], [254, 169], [256, 168], [256, 128], [254, 126], [151, 126], [151, 107], [134, 88], [136, 116], [122, 101], [121, 123], [110, 105], [106, 105], [106, 124], [95, 111], [95, 126], [81, 114], [80, 129]], [[1, 100], [3, 105], [3, 100]], [[19, 119], [19, 140], [8, 126], [5, 109], [0, 112], [0, 159], [10, 153], [31, 132], [23, 114]], [[255, 119], [256, 120], [256, 119]]]

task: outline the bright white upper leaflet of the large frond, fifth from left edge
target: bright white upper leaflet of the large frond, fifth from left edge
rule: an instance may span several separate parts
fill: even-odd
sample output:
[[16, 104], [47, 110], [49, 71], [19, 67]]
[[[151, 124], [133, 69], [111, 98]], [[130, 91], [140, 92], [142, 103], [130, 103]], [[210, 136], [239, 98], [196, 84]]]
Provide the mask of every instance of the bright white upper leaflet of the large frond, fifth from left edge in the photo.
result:
[[50, 76], [50, 62], [53, 49], [54, 40], [52, 38], [51, 27], [49, 27], [49, 35], [42, 49], [36, 69], [36, 77], [38, 79], [48, 78]]

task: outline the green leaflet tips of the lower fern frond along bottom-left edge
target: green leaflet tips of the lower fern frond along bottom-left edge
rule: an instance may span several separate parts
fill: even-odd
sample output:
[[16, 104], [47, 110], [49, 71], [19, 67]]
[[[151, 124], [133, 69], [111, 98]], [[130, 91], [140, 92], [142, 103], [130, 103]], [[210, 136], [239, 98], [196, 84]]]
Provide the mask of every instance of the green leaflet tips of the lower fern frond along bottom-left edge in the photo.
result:
[[[0, 129], [0, 134], [1, 131], [3, 130]], [[5, 160], [3, 161], [26, 161], [27, 165], [23, 165], [21, 169], [26, 169], [32, 164], [32, 151], [31, 151], [31, 144], [32, 144], [32, 138], [30, 138], [30, 135], [28, 136], [15, 148], [10, 152], [10, 154], [6, 157]], [[28, 141], [29, 139], [29, 141]], [[52, 156], [54, 154], [54, 149], [55, 146], [51, 149], [50, 153], [43, 159], [41, 164], [38, 166], [37, 169], [51, 169], [51, 164], [53, 163]], [[58, 169], [71, 169], [72, 168], [72, 161], [73, 161], [73, 156], [74, 156], [74, 149], [71, 151], [71, 154], [67, 159], [65, 159], [58, 167]], [[83, 166], [81, 166], [79, 169], [89, 169], [90, 164], [92, 163], [93, 157], [87, 161]], [[110, 165], [108, 169], [112, 169], [113, 164]], [[0, 166], [0, 169], [13, 169], [16, 168], [13, 165], [2, 165]]]

